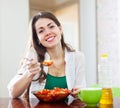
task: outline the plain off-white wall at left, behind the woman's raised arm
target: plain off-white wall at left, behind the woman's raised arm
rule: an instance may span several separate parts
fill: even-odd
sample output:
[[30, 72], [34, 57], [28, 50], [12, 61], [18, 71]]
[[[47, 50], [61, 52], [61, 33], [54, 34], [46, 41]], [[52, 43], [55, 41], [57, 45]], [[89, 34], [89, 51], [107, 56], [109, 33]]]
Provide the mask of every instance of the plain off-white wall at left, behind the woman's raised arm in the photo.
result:
[[16, 74], [27, 40], [28, 0], [0, 0], [0, 97]]

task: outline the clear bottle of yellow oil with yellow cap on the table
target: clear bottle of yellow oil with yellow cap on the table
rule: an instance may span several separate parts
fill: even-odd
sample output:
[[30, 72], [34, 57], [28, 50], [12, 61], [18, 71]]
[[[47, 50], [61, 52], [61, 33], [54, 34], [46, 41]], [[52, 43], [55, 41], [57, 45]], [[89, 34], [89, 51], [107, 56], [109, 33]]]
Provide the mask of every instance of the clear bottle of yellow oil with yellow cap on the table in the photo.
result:
[[[101, 55], [101, 67], [100, 67], [100, 85], [102, 87], [102, 97], [100, 100], [100, 105], [111, 105], [113, 104], [113, 94], [112, 94], [112, 67], [108, 61], [108, 54], [104, 53]], [[105, 107], [107, 108], [107, 107]], [[108, 107], [112, 108], [112, 107]]]

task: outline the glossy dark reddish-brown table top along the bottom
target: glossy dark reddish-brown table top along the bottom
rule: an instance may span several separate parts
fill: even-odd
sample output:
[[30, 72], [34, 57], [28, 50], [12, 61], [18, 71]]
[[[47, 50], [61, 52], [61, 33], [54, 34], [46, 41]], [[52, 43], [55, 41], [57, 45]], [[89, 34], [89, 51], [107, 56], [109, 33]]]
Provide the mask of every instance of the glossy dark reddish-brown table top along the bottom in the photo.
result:
[[71, 103], [67, 102], [39, 102], [35, 99], [31, 99], [27, 102], [23, 99], [10, 99], [10, 98], [0, 98], [0, 108], [120, 108], [120, 98], [113, 99], [113, 105], [106, 105], [105, 107], [88, 107], [85, 103], [80, 100], [73, 100]]

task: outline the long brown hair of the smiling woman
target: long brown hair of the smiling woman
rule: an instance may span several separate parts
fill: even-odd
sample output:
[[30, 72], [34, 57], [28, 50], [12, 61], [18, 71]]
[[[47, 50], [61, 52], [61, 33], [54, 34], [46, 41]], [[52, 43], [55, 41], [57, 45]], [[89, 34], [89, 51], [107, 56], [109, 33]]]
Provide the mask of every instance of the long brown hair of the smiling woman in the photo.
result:
[[[58, 19], [51, 13], [51, 12], [46, 12], [46, 11], [42, 11], [37, 13], [35, 16], [33, 16], [32, 20], [31, 20], [31, 39], [32, 39], [32, 44], [31, 46], [34, 47], [34, 49], [37, 52], [37, 58], [38, 61], [41, 63], [41, 75], [38, 78], [39, 81], [43, 81], [46, 78], [46, 73], [43, 70], [43, 65], [42, 62], [45, 59], [45, 53], [46, 53], [46, 47], [44, 47], [42, 44], [39, 44], [39, 39], [36, 33], [36, 29], [35, 29], [35, 23], [40, 19], [40, 18], [48, 18], [51, 19], [52, 21], [54, 21], [56, 23], [56, 25], [58, 27], [61, 26], [60, 22], [58, 21]], [[68, 51], [74, 51], [74, 49], [67, 43], [65, 43], [64, 41], [64, 37], [63, 37], [63, 33], [61, 34], [61, 45], [63, 50], [66, 48]]]

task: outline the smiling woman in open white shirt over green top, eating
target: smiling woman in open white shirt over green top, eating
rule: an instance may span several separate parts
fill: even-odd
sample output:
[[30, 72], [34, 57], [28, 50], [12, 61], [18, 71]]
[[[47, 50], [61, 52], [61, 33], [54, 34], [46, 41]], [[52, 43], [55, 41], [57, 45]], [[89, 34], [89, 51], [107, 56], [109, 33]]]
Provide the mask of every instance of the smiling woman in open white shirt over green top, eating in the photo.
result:
[[[64, 42], [58, 19], [50, 12], [40, 12], [31, 21], [31, 45], [17, 75], [8, 84], [12, 98], [29, 90], [68, 88], [76, 97], [81, 87], [86, 86], [84, 55]], [[44, 66], [44, 60], [53, 64]]]

